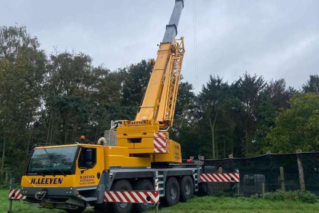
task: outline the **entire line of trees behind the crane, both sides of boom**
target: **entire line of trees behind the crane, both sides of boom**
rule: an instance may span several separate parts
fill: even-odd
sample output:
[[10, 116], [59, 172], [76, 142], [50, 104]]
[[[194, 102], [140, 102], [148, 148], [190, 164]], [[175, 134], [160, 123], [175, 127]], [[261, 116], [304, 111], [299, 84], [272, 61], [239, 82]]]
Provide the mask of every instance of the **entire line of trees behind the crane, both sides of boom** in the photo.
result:
[[[96, 142], [112, 120], [135, 118], [152, 71], [141, 60], [111, 71], [84, 53], [47, 54], [26, 27], [0, 27], [0, 174], [20, 175], [35, 145]], [[170, 137], [184, 158], [318, 151], [319, 76], [297, 90], [245, 72], [211, 75], [198, 93], [179, 85]]]

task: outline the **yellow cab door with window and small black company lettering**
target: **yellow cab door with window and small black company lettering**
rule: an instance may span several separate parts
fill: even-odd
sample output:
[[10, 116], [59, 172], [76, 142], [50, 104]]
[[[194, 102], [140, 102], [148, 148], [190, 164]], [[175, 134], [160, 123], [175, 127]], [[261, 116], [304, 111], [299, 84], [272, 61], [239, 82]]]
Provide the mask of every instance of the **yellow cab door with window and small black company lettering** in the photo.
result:
[[81, 146], [76, 163], [78, 187], [97, 186], [103, 172], [103, 149]]

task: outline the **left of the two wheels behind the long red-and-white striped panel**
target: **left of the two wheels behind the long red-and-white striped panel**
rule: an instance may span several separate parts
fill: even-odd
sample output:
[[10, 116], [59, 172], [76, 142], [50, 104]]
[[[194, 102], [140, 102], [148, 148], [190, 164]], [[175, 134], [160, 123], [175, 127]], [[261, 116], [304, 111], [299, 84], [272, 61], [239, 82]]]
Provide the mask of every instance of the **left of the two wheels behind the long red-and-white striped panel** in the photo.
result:
[[[132, 191], [132, 185], [128, 180], [119, 180], [112, 187], [113, 191]], [[129, 213], [132, 209], [133, 203], [128, 202], [114, 202], [112, 209], [115, 213]]]

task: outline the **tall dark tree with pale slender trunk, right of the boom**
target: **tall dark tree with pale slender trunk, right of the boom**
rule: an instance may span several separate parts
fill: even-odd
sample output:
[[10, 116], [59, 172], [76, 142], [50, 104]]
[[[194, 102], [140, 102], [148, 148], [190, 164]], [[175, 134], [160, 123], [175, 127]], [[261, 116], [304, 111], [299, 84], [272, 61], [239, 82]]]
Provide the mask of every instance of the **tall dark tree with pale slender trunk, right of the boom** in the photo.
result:
[[[202, 87], [198, 95], [198, 122], [202, 128], [199, 130], [203, 141], [210, 134], [211, 156], [213, 159], [220, 156], [220, 144], [223, 144], [223, 156], [226, 156], [226, 143], [232, 147], [232, 134], [234, 121], [231, 111], [236, 105], [235, 97], [230, 94], [230, 87], [219, 76], [209, 76], [209, 80]], [[209, 130], [209, 133], [207, 132]], [[205, 143], [204, 143], [205, 144]]]

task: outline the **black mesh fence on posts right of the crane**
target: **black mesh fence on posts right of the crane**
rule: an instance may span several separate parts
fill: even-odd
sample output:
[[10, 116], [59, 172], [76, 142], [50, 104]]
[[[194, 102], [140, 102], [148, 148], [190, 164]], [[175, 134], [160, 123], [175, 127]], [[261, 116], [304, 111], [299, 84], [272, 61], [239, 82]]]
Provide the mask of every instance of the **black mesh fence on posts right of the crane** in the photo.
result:
[[[240, 172], [240, 193], [246, 195], [260, 194], [277, 189], [299, 190], [299, 157], [302, 164], [305, 189], [319, 194], [319, 152], [298, 154], [266, 154], [252, 158], [229, 158], [204, 160], [205, 172]], [[283, 177], [280, 176], [283, 167]], [[230, 183], [209, 183], [208, 193], [227, 192]]]

